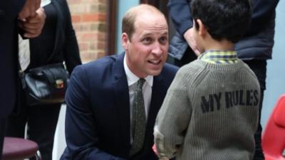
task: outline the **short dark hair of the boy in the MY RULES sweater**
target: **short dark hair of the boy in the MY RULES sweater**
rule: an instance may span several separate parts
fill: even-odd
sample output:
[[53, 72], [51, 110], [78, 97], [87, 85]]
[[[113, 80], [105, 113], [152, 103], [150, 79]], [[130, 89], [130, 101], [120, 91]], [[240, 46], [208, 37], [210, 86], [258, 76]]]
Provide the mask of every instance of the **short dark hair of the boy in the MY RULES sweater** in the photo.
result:
[[193, 0], [191, 11], [196, 28], [200, 19], [212, 38], [232, 43], [246, 33], [252, 17], [250, 0]]

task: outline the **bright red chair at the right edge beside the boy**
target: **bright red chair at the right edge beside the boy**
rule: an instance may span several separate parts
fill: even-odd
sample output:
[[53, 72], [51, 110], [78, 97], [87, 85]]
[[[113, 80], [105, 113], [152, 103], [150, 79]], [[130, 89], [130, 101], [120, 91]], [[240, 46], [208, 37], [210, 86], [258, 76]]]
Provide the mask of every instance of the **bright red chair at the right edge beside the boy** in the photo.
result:
[[285, 160], [285, 95], [279, 98], [266, 124], [262, 149], [266, 160]]

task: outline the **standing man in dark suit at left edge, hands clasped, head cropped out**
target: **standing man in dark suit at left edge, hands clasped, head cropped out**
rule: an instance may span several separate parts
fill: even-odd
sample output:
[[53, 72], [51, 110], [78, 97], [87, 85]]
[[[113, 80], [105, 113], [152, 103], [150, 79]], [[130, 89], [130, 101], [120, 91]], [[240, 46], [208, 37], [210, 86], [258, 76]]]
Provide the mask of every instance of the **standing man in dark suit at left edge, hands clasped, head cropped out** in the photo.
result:
[[[16, 105], [18, 77], [18, 27], [17, 18], [29, 23], [38, 16], [36, 9], [41, 0], [0, 1], [0, 159], [6, 127], [6, 117]], [[38, 25], [38, 23], [36, 23]], [[32, 25], [33, 26], [33, 25]], [[40, 28], [38, 28], [40, 27]], [[23, 28], [25, 36], [33, 38], [41, 33], [41, 24], [35, 28]]]

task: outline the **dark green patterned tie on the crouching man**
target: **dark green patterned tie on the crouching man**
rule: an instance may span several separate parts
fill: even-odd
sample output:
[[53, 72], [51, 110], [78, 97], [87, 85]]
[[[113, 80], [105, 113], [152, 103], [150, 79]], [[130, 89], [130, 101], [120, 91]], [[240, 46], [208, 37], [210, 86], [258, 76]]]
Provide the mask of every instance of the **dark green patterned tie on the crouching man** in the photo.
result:
[[133, 102], [133, 145], [130, 149], [130, 156], [138, 153], [142, 149], [143, 142], [145, 139], [145, 127], [147, 120], [145, 117], [145, 103], [142, 95], [142, 85], [145, 79], [140, 78], [138, 80], [138, 87], [135, 90], [135, 98]]

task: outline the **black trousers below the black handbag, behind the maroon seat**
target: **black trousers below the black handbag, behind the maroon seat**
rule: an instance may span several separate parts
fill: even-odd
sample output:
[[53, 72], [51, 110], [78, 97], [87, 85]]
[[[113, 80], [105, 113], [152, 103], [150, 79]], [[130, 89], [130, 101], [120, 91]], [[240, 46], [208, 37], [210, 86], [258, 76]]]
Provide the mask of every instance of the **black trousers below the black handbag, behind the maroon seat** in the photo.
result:
[[8, 118], [6, 136], [24, 138], [27, 123], [27, 138], [38, 144], [43, 160], [51, 160], [60, 109], [61, 104], [32, 107], [21, 105], [19, 113]]

